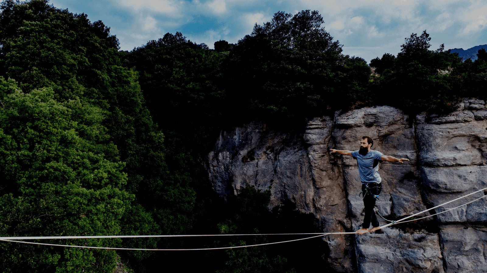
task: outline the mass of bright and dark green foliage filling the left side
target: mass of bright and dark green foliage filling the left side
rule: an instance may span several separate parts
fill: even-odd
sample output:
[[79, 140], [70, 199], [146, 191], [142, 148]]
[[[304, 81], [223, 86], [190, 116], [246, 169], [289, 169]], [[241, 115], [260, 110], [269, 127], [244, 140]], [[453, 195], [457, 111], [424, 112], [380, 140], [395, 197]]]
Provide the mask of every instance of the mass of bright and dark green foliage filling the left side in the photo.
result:
[[[168, 170], [164, 135], [143, 105], [138, 73], [121, 66], [110, 28], [46, 0], [6, 0], [1, 9], [0, 171], [9, 181], [0, 193], [3, 236], [174, 234], [190, 228], [194, 191], [185, 188], [184, 169]], [[3, 247], [4, 272], [107, 272], [115, 258], [106, 251]]]

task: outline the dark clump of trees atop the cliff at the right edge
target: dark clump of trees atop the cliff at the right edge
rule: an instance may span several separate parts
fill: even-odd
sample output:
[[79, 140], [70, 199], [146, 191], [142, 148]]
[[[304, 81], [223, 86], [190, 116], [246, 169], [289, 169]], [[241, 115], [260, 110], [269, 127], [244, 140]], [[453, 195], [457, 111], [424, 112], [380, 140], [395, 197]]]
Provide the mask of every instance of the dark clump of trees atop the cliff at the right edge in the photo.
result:
[[[443, 44], [435, 51], [429, 50], [430, 40], [426, 30], [420, 36], [411, 34], [397, 57], [385, 53], [371, 60], [370, 66], [380, 74], [370, 86], [373, 102], [412, 113], [447, 114], [456, 109], [461, 98], [486, 98], [483, 90], [487, 87], [487, 63], [483, 51], [479, 51], [475, 62], [462, 62], [458, 53], [444, 51]], [[390, 102], [389, 90], [400, 94], [397, 102]]]

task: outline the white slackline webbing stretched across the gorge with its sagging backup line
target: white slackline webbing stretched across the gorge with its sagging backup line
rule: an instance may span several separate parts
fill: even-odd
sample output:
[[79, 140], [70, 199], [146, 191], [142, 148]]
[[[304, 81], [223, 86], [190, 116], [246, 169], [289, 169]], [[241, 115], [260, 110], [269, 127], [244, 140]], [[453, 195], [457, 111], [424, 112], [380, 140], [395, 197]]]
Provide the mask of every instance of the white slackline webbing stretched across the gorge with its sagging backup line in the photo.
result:
[[[384, 227], [388, 227], [390, 225], [393, 225], [393, 224], [396, 224], [396, 223], [399, 223], [399, 222], [403, 222], [403, 220], [406, 220], [408, 218], [411, 218], [411, 217], [414, 217], [418, 214], [421, 214], [423, 212], [427, 212], [431, 209], [435, 209], [437, 207], [440, 207], [442, 205], [446, 205], [446, 204], [449, 204], [451, 202], [454, 202], [454, 201], [457, 201], [457, 200], [460, 200], [464, 197], [467, 197], [469, 195], [472, 195], [472, 194], [475, 194], [477, 192], [480, 192], [480, 191], [483, 191], [483, 190], [487, 190], [487, 188], [483, 188], [483, 189], [479, 189], [477, 191], [474, 191], [472, 193], [469, 193], [467, 195], [464, 195], [464, 196], [461, 196], [459, 198], [456, 198], [454, 200], [451, 200], [451, 201], [448, 201], [446, 203], [443, 203], [441, 205], [437, 205], [437, 206], [434, 206], [432, 208], [429, 208], [429, 209], [426, 209], [426, 210], [423, 210], [421, 212], [418, 212], [416, 214], [413, 214], [411, 216], [408, 216], [408, 217], [405, 217], [403, 219], [400, 219], [400, 220], [397, 220], [397, 221], [390, 221], [390, 220], [387, 220], [387, 221], [390, 221], [391, 223], [388, 223], [386, 225], [383, 225], [380, 227], [380, 229], [384, 228]], [[482, 197], [480, 198], [477, 198], [473, 201], [470, 201], [466, 204], [463, 204], [463, 205], [467, 205], [467, 204], [470, 204], [474, 201], [477, 201], [483, 197], [485, 197], [487, 195], [483, 195]], [[458, 208], [460, 206], [463, 206], [463, 205], [459, 205], [457, 207], [454, 207], [454, 208], [450, 208], [448, 210], [445, 210], [445, 211], [441, 211], [439, 213], [436, 213], [436, 214], [433, 214], [433, 215], [430, 215], [430, 216], [434, 216], [434, 215], [437, 215], [437, 214], [440, 214], [440, 213], [443, 213], [443, 212], [447, 212], [449, 210], [452, 210], [452, 209], [455, 209], [455, 208]], [[380, 215], [380, 214], [379, 214]], [[430, 217], [430, 216], [426, 216], [426, 217], [423, 217], [423, 218], [427, 218], [427, 217]], [[423, 218], [419, 218], [419, 219], [423, 219]], [[385, 219], [385, 218], [384, 218]], [[419, 220], [419, 219], [414, 219], [414, 220], [410, 220], [410, 221], [404, 221], [404, 222], [411, 222], [411, 221], [416, 221], [416, 220]], [[287, 241], [280, 241], [280, 242], [272, 242], [272, 243], [264, 243], [264, 244], [255, 244], [255, 245], [242, 245], [242, 246], [230, 246], [230, 247], [216, 247], [216, 248], [192, 248], [192, 249], [140, 249], [140, 248], [116, 248], [116, 247], [95, 247], [95, 246], [78, 246], [78, 245], [60, 245], [60, 244], [47, 244], [47, 243], [37, 243], [37, 242], [25, 242], [25, 241], [17, 241], [16, 239], [96, 239], [96, 238], [148, 238], [148, 237], [204, 237], [204, 236], [246, 236], [246, 235], [310, 235], [310, 234], [319, 234], [318, 236], [313, 236], [313, 237], [308, 237], [308, 238], [301, 238], [301, 239], [294, 239], [294, 240], [287, 240]], [[306, 239], [312, 239], [312, 238], [317, 238], [317, 237], [321, 237], [321, 236], [325, 236], [325, 235], [330, 235], [330, 234], [356, 234], [356, 232], [329, 232], [329, 233], [273, 233], [273, 234], [212, 234], [212, 235], [118, 235], [118, 236], [49, 236], [49, 237], [0, 237], [0, 240], [1, 241], [7, 241], [7, 242], [18, 242], [18, 243], [28, 243], [28, 244], [39, 244], [39, 245], [50, 245], [50, 246], [62, 246], [62, 247], [78, 247], [78, 248], [96, 248], [96, 249], [114, 249], [114, 250], [215, 250], [215, 249], [231, 249], [231, 248], [241, 248], [241, 247], [251, 247], [251, 246], [261, 246], [261, 245], [269, 245], [269, 244], [278, 244], [278, 243], [285, 243], [285, 242], [293, 242], [293, 241], [299, 241], [299, 240], [306, 240]]]

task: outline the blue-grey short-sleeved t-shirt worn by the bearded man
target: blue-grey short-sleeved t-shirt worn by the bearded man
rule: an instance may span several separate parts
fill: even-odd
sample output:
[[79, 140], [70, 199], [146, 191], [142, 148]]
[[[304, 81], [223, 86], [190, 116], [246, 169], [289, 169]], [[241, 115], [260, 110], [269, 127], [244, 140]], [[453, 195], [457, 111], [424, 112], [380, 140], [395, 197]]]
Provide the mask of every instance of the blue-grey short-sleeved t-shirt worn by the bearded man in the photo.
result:
[[360, 180], [365, 183], [380, 183], [379, 162], [383, 155], [381, 152], [370, 150], [366, 155], [358, 154], [359, 150], [353, 151], [352, 156], [357, 159], [358, 173]]

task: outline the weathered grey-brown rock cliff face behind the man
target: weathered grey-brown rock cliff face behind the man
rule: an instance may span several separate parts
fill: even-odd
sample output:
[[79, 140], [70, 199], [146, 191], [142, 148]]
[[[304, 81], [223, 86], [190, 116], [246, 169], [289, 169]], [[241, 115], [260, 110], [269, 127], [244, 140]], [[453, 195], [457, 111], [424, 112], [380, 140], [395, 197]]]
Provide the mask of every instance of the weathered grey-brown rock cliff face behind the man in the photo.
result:
[[[295, 135], [253, 123], [222, 131], [206, 168], [221, 196], [238, 194], [247, 183], [270, 187], [270, 209], [291, 201], [313, 213], [323, 231], [353, 232], [363, 220], [357, 163], [328, 149], [358, 150], [361, 136], [371, 136], [373, 150], [410, 159], [380, 163], [383, 190], [376, 207], [397, 220], [487, 187], [486, 118], [486, 103], [471, 99], [446, 117], [409, 117], [390, 106], [337, 112], [309, 120]], [[487, 198], [412, 223], [415, 228], [324, 236], [328, 261], [338, 272], [487, 273]]]

